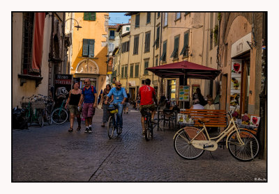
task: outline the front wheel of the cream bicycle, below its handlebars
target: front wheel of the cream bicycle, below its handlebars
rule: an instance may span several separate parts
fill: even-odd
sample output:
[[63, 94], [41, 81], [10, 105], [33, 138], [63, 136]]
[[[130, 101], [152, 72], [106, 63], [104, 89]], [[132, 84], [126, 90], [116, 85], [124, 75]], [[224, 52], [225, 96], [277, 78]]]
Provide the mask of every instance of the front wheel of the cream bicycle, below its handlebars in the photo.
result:
[[[242, 142], [241, 142], [242, 141]], [[257, 138], [245, 129], [234, 131], [227, 139], [229, 153], [239, 161], [251, 161], [259, 153]]]

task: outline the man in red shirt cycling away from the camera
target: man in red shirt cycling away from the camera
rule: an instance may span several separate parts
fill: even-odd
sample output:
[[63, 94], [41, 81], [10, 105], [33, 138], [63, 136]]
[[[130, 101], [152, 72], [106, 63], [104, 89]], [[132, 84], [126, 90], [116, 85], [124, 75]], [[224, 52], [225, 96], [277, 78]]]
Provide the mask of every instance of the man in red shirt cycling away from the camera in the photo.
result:
[[142, 134], [144, 134], [144, 109], [149, 108], [151, 113], [151, 121], [154, 120], [156, 108], [154, 102], [157, 105], [157, 98], [154, 88], [150, 86], [151, 80], [145, 80], [145, 86], [140, 87], [140, 113], [142, 113]]

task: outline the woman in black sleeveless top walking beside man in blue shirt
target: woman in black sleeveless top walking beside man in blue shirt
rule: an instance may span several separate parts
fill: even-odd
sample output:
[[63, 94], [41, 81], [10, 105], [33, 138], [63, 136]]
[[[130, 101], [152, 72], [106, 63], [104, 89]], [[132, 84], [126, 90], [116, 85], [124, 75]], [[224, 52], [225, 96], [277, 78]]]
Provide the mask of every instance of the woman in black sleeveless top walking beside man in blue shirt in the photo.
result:
[[80, 84], [75, 83], [73, 90], [70, 90], [69, 92], [69, 97], [68, 100], [65, 104], [65, 108], [69, 108], [70, 110], [70, 129], [68, 130], [69, 132], [73, 131], [73, 124], [75, 117], [77, 117], [77, 131], [80, 131], [80, 123], [81, 123], [81, 118], [80, 118], [80, 113], [81, 113], [81, 107], [78, 107], [77, 105], [80, 102], [80, 96], [82, 94], [82, 90], [79, 89]]

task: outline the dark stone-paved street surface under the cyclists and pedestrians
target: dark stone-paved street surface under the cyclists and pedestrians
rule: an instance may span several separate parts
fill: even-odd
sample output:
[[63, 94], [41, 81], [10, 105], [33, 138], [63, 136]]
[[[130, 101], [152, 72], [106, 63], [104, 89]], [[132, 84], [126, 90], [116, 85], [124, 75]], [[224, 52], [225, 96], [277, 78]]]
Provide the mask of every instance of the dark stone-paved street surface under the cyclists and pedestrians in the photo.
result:
[[[175, 131], [141, 135], [140, 112], [123, 114], [123, 133], [111, 140], [100, 127], [103, 110], [93, 118], [93, 133], [68, 132], [69, 122], [13, 130], [12, 181], [266, 181], [266, 161], [241, 162], [225, 148], [204, 152], [195, 160], [174, 151]], [[256, 180], [255, 180], [256, 179]]]

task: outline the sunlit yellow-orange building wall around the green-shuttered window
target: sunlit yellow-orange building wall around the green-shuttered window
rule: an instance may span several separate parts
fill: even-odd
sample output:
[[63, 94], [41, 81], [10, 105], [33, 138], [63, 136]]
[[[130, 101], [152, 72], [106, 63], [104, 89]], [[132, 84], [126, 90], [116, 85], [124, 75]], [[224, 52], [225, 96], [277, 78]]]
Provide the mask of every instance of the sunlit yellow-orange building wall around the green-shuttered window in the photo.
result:
[[[96, 13], [96, 21], [84, 20], [84, 13], [74, 13], [74, 18], [79, 22], [81, 29], [73, 29], [73, 55], [70, 74], [75, 74], [77, 66], [82, 60], [93, 60], [98, 65], [97, 89], [105, 88], [107, 75], [107, 39], [109, 13]], [[94, 57], [82, 56], [83, 39], [94, 39]], [[97, 91], [97, 92], [99, 92]]]

